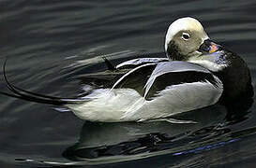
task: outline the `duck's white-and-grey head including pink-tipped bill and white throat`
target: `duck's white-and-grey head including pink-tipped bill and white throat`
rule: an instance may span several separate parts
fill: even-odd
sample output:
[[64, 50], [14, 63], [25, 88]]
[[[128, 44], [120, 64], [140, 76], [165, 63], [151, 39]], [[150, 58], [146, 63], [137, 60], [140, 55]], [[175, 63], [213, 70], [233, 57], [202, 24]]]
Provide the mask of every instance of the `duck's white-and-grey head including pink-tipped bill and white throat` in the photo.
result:
[[213, 54], [219, 49], [202, 24], [190, 17], [173, 21], [165, 37], [165, 51], [170, 60], [199, 63], [213, 71], [226, 66], [226, 63], [219, 65], [217, 62], [219, 54]]

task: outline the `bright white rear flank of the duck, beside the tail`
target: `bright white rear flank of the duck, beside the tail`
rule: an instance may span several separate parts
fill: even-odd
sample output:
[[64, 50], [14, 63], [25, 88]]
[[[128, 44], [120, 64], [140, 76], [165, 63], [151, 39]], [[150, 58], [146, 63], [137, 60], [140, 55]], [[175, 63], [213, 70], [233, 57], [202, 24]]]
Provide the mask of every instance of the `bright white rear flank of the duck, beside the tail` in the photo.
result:
[[126, 112], [143, 105], [143, 97], [131, 89], [100, 89], [85, 96], [88, 102], [67, 105], [80, 119], [102, 122], [120, 122]]

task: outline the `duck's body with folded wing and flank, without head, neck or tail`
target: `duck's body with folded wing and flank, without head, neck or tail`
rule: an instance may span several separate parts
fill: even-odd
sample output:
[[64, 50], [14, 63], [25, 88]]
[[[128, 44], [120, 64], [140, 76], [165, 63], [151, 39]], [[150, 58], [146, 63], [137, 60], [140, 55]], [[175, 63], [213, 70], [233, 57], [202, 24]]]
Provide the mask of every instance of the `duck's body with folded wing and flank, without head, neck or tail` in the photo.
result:
[[81, 119], [143, 121], [214, 105], [222, 91], [218, 77], [201, 65], [145, 63], [121, 77], [111, 90], [100, 90], [86, 97], [89, 102], [68, 107]]

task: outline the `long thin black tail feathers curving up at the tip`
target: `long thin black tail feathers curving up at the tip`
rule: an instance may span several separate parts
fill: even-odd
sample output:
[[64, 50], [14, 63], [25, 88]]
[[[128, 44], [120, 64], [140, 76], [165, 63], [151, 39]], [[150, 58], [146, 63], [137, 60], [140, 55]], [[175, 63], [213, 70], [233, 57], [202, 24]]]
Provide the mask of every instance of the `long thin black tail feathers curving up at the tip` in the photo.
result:
[[0, 91], [1, 94], [7, 95], [9, 97], [22, 99], [29, 102], [36, 102], [39, 104], [47, 104], [47, 105], [79, 104], [85, 101], [84, 99], [81, 99], [79, 97], [72, 97], [72, 98], [53, 97], [53, 96], [38, 94], [31, 91], [25, 91], [21, 88], [18, 88], [8, 81], [8, 77], [6, 73], [6, 64], [7, 64], [7, 60], [5, 61], [3, 66], [3, 74], [4, 74], [5, 81], [7, 83], [8, 90], [11, 91], [12, 93]]

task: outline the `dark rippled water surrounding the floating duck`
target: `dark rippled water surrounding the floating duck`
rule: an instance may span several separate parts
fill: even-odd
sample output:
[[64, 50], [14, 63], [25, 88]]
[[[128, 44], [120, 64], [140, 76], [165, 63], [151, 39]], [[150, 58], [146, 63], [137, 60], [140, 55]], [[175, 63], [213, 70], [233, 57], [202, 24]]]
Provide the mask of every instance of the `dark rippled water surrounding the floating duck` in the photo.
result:
[[[255, 85], [255, 14], [256, 3], [242, 0], [0, 0], [0, 63], [8, 57], [8, 78], [19, 87], [75, 96], [87, 84], [110, 80], [104, 73], [81, 77], [105, 70], [102, 55], [120, 63], [162, 52], [168, 25], [192, 16], [212, 39], [244, 58]], [[3, 77], [0, 86], [7, 91]], [[198, 124], [91, 123], [50, 105], [0, 100], [1, 167], [256, 164], [255, 104], [233, 109], [229, 117], [221, 105], [189, 112], [186, 118]]]

